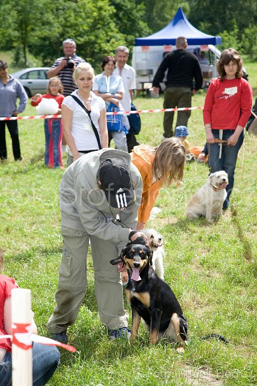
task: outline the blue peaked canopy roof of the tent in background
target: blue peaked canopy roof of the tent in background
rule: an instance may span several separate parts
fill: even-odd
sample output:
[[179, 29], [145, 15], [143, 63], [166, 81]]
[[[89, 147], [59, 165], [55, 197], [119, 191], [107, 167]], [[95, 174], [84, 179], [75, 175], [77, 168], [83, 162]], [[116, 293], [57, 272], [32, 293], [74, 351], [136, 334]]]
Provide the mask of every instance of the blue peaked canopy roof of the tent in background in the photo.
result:
[[220, 36], [204, 34], [192, 26], [179, 7], [176, 15], [166, 27], [145, 38], [135, 39], [135, 46], [175, 45], [176, 39], [179, 36], [184, 36], [189, 46], [198, 44], [221, 44]]

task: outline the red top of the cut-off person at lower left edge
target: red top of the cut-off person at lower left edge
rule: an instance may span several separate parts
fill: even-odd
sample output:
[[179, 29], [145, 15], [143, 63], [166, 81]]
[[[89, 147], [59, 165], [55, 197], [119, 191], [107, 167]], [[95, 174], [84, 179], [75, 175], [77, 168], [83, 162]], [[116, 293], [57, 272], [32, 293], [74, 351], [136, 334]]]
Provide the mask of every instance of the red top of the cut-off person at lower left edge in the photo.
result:
[[[4, 306], [6, 299], [11, 296], [13, 288], [18, 288], [14, 279], [0, 274], [0, 335], [8, 335], [4, 327]], [[11, 352], [12, 345], [10, 339], [0, 339], [0, 347]]]

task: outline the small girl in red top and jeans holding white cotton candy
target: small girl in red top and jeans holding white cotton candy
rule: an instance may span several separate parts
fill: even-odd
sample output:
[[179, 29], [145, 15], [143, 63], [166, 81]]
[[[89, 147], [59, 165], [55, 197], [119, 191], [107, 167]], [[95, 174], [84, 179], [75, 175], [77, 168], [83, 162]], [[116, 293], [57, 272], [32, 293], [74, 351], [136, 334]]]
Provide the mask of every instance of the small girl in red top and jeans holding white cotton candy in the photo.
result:
[[[48, 83], [48, 94], [36, 94], [31, 98], [31, 105], [38, 106], [42, 101], [42, 98], [55, 99], [59, 105], [58, 114], [60, 114], [61, 104], [65, 98], [62, 95], [63, 87], [61, 80], [54, 76], [49, 79]], [[45, 138], [46, 138], [46, 149], [45, 149], [45, 165], [49, 168], [63, 168], [62, 166], [62, 122], [60, 118], [46, 118], [45, 119]]]

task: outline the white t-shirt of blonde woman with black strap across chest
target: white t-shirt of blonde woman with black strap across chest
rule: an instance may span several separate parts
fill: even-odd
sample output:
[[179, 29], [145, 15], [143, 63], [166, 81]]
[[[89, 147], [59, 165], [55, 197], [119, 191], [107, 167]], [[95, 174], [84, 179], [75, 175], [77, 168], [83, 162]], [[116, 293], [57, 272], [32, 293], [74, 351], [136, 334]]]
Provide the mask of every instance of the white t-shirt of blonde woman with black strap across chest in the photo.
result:
[[[80, 101], [80, 97], [78, 95], [78, 90], [75, 90], [71, 93], [77, 97]], [[72, 136], [74, 138], [74, 142], [78, 151], [86, 151], [86, 150], [98, 150], [98, 142], [95, 137], [90, 118], [85, 110], [71, 97], [65, 97], [63, 99], [62, 105], [67, 106], [70, 110], [73, 111], [72, 116]], [[90, 91], [91, 96], [91, 119], [97, 128], [99, 133], [100, 141], [100, 129], [99, 129], [99, 118], [100, 112], [105, 108], [105, 102], [101, 97], [95, 95], [92, 91]], [[83, 103], [83, 101], [81, 101]]]

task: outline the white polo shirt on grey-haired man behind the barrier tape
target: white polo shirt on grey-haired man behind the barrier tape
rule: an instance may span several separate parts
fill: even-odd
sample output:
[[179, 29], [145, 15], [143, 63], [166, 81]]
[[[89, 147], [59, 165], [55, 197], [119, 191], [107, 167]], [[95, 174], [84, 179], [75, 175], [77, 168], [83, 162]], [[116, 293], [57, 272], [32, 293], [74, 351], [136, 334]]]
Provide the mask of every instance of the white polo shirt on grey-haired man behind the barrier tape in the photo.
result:
[[125, 66], [121, 70], [121, 74], [118, 67], [115, 67], [112, 74], [114, 76], [120, 75], [122, 78], [125, 92], [123, 93], [122, 100], [120, 102], [125, 111], [130, 111], [131, 109], [130, 90], [135, 90], [136, 88], [136, 72], [133, 67], [128, 66], [125, 63]]

